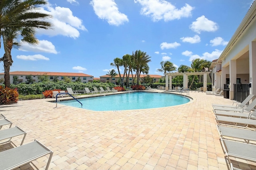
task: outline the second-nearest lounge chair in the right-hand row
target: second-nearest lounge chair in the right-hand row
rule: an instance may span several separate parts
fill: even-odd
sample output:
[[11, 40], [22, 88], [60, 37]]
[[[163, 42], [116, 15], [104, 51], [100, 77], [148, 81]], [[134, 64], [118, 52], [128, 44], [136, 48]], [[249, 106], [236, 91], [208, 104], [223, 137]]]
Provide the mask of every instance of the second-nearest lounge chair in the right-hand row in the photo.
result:
[[228, 137], [227, 139], [229, 139], [229, 140], [242, 139], [246, 143], [249, 143], [250, 140], [256, 141], [256, 131], [255, 130], [226, 127], [226, 126], [221, 126], [221, 125], [216, 125], [216, 126], [217, 126], [220, 137], [223, 139], [227, 138], [227, 137]]

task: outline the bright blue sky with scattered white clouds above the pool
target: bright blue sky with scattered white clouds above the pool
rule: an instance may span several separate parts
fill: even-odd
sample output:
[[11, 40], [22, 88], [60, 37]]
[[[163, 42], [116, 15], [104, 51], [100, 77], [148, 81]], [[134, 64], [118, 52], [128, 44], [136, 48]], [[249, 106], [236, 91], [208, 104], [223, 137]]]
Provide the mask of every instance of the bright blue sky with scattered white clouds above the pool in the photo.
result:
[[[11, 71], [86, 73], [99, 77], [114, 58], [140, 49], [177, 67], [218, 59], [253, 0], [48, 0], [40, 11], [52, 30], [38, 30], [38, 45], [12, 49]], [[19, 40], [17, 40], [19, 41]], [[0, 49], [4, 54], [3, 47]], [[4, 70], [3, 63], [0, 66]], [[121, 68], [121, 72], [124, 69]], [[117, 70], [116, 70], [117, 71]], [[4, 71], [2, 71], [4, 72]]]

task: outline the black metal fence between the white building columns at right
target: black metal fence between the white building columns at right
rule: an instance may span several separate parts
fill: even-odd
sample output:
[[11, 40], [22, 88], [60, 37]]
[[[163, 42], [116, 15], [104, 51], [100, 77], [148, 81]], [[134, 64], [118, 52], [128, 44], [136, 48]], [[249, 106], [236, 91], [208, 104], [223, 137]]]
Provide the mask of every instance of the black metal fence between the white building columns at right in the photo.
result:
[[234, 100], [243, 102], [250, 94], [250, 84], [234, 84]]

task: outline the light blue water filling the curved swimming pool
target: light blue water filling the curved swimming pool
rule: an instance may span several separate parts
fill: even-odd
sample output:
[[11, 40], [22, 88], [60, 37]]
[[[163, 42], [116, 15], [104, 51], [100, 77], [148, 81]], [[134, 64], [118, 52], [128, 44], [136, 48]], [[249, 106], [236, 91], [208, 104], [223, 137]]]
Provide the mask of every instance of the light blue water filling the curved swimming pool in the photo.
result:
[[124, 93], [78, 100], [83, 104], [82, 107], [75, 100], [60, 101], [58, 103], [92, 111], [120, 111], [168, 107], [181, 105], [190, 101], [187, 97], [179, 95], [146, 92]]

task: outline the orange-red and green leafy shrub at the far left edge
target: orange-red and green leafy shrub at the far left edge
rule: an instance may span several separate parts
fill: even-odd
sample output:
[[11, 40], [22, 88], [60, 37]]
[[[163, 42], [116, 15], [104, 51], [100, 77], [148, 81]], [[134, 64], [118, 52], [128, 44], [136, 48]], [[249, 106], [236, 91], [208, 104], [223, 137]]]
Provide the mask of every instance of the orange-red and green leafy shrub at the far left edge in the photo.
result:
[[0, 105], [17, 103], [19, 100], [19, 93], [17, 89], [4, 88], [0, 86]]

